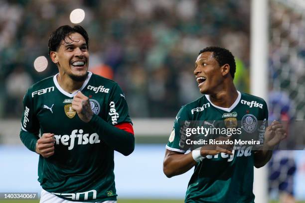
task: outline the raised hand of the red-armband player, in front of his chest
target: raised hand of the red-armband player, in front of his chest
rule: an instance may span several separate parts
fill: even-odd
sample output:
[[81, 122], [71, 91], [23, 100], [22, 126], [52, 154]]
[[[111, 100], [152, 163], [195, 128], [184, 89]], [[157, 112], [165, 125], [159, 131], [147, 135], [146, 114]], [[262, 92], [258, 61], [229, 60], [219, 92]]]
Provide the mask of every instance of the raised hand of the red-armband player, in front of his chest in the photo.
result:
[[89, 98], [80, 91], [73, 98], [72, 109], [77, 112], [79, 118], [84, 122], [89, 122], [93, 116]]

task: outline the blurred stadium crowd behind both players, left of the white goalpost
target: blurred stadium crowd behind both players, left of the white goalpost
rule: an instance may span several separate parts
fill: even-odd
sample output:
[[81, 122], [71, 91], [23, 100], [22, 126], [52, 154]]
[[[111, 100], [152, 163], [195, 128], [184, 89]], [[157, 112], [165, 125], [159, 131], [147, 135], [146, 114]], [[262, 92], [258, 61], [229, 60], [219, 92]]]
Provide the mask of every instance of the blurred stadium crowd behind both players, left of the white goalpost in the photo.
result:
[[[200, 49], [223, 46], [237, 60], [235, 83], [248, 92], [250, 1], [245, 0], [0, 0], [0, 116], [20, 117], [27, 88], [55, 74], [51, 31], [80, 24], [90, 37], [89, 70], [122, 87], [132, 117], [173, 117], [200, 97], [193, 70]], [[38, 56], [48, 68], [36, 72]]]

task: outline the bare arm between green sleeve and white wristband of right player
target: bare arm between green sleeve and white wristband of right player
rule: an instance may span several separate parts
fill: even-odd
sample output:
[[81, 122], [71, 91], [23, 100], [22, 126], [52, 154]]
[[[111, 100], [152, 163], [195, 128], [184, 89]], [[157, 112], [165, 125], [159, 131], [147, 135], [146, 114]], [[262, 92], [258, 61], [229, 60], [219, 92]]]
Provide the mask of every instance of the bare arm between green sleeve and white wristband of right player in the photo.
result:
[[197, 162], [194, 161], [192, 153], [167, 154], [163, 161], [163, 172], [166, 177], [171, 178], [190, 170]]

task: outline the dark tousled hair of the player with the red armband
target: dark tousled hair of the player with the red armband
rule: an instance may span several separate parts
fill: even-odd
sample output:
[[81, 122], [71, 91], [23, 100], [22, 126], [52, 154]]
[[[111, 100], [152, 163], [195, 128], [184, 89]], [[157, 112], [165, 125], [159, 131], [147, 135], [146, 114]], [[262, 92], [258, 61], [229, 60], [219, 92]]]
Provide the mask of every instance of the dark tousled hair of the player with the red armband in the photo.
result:
[[88, 37], [88, 33], [87, 31], [80, 25], [75, 25], [74, 27], [71, 27], [69, 25], [63, 25], [58, 27], [54, 32], [52, 32], [52, 34], [50, 35], [49, 38], [49, 55], [51, 53], [51, 51], [57, 51], [58, 48], [60, 47], [60, 43], [62, 40], [65, 40], [65, 38], [71, 34], [77, 32], [79, 34], [81, 34], [85, 41], [86, 41], [86, 45], [87, 45], [87, 49], [89, 49], [89, 37]]

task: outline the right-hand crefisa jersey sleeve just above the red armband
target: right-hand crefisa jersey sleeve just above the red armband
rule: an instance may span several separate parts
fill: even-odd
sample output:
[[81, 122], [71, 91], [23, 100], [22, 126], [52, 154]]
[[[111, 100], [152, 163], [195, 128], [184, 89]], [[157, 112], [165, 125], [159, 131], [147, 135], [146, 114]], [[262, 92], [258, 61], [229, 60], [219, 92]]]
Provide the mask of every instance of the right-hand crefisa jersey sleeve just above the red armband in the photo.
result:
[[132, 122], [128, 114], [128, 105], [125, 95], [118, 84], [116, 84], [112, 89], [112, 93], [109, 98], [106, 121], [112, 125]]

